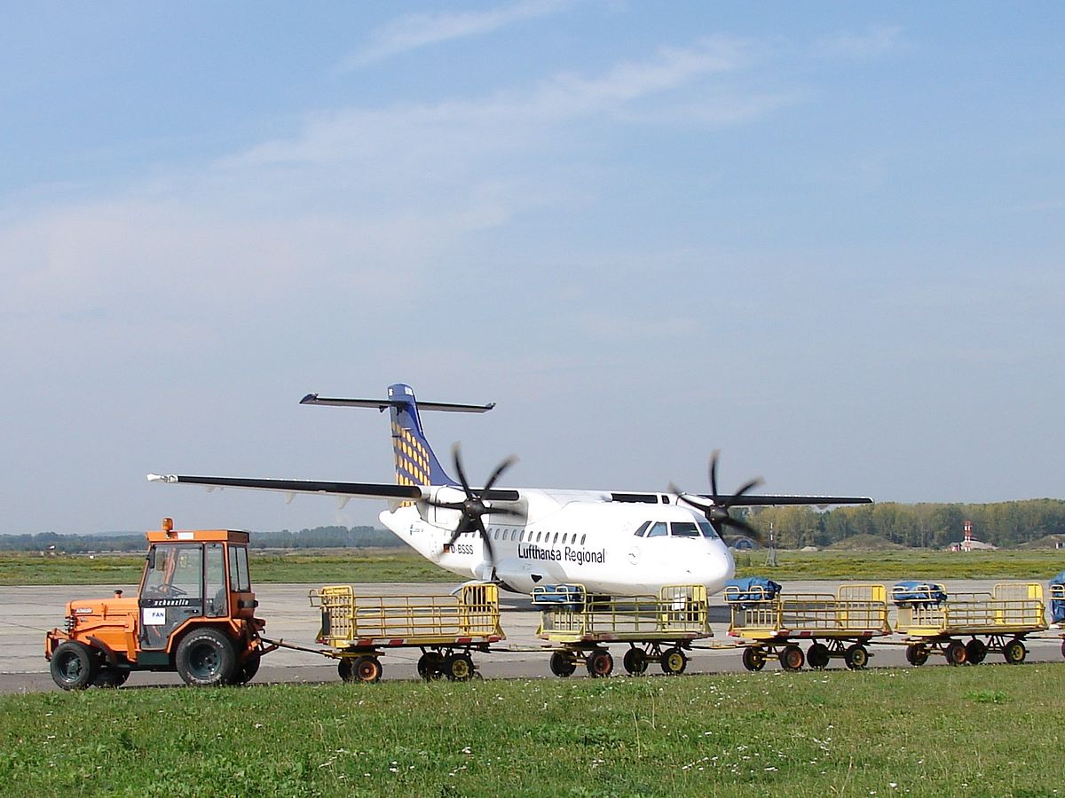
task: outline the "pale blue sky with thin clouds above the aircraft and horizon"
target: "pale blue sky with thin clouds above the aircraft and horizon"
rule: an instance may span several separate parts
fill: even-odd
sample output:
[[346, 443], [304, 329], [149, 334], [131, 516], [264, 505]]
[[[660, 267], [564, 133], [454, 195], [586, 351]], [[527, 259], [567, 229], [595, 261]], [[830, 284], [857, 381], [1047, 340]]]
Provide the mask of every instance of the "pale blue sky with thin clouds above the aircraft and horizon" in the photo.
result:
[[0, 2], [0, 533], [151, 472], [1065, 498], [1065, 6]]

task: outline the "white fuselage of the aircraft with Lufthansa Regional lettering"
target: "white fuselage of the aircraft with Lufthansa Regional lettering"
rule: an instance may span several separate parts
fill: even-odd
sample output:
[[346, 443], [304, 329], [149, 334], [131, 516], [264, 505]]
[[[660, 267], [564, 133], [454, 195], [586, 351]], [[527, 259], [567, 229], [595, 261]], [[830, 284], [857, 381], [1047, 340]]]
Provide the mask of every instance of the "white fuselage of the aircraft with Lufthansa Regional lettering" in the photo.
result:
[[[419, 502], [387, 510], [380, 520], [441, 567], [469, 579], [495, 579], [521, 593], [557, 583], [617, 596], [657, 595], [666, 585], [681, 584], [701, 584], [715, 593], [735, 571], [728, 548], [703, 516], [675, 503], [611, 501], [609, 494], [591, 491], [522, 488], [521, 497], [506, 503], [518, 506], [520, 517], [482, 517], [491, 562], [477, 532], [463, 533], [452, 544], [458, 511]], [[437, 487], [432, 498], [456, 501], [462, 493]], [[658, 534], [648, 535], [656, 523]], [[693, 523], [699, 534], [690, 534]], [[641, 528], [645, 536], [636, 534]]]

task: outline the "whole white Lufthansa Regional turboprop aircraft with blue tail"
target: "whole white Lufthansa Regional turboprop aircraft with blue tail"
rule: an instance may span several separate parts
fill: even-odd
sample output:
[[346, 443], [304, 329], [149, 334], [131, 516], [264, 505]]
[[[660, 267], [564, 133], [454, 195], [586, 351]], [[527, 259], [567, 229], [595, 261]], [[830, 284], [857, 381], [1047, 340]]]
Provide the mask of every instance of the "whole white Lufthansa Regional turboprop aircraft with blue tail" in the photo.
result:
[[395, 484], [309, 480], [187, 477], [149, 473], [151, 482], [208, 489], [241, 487], [294, 496], [326, 494], [341, 506], [355, 497], [384, 499], [379, 518], [427, 560], [465, 579], [493, 581], [517, 593], [538, 584], [579, 583], [596, 595], [655, 595], [666, 585], [702, 584], [720, 591], [735, 564], [721, 539], [726, 527], [757, 537], [739, 506], [858, 504], [872, 499], [836, 496], [754, 496], [752, 480], [735, 494], [718, 492], [718, 453], [710, 458], [709, 494], [504, 488], [496, 482], [508, 458], [482, 487], [471, 487], [458, 445], [454, 479], [440, 464], [422, 428], [422, 411], [486, 413], [493, 404], [420, 402], [409, 385], [389, 386], [387, 399], [327, 399], [309, 394], [301, 404], [388, 410], [392, 421]]

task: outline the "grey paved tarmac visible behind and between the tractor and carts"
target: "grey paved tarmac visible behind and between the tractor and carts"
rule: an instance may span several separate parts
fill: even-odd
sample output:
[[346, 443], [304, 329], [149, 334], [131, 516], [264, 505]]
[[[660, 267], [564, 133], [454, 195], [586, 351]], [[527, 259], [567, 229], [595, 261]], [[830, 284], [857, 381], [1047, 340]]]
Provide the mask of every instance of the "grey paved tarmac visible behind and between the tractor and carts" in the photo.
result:
[[[790, 593], [834, 594], [838, 582], [787, 582]], [[951, 594], [958, 592], [989, 591], [994, 582], [965, 580], [948, 582]], [[259, 617], [266, 619], [266, 635], [274, 639], [300, 645], [314, 646], [318, 631], [320, 614], [310, 606], [308, 591], [317, 585], [267, 584], [256, 587], [259, 599]], [[65, 603], [72, 598], [94, 598], [112, 595], [115, 587], [136, 592], [135, 585], [49, 585], [0, 587], [0, 606], [4, 608], [0, 618], [0, 693], [31, 693], [59, 689], [48, 672], [44, 658], [45, 632], [61, 626]], [[359, 595], [446, 595], [453, 585], [439, 583], [395, 583], [359, 584], [355, 591]], [[540, 614], [531, 609], [526, 596], [502, 594], [503, 628], [507, 639], [493, 647], [491, 653], [477, 653], [474, 661], [486, 679], [493, 678], [554, 678], [547, 664], [548, 654], [540, 646], [536, 636]], [[688, 664], [688, 672], [742, 671], [740, 651], [724, 648], [732, 645], [728, 637], [728, 611], [720, 597], [711, 599], [710, 621], [714, 637], [695, 644]], [[1060, 633], [1054, 630], [1044, 636], [1029, 637], [1029, 662], [1062, 662]], [[898, 641], [898, 637], [886, 639]], [[715, 648], [718, 647], [718, 648]], [[805, 646], [803, 647], [805, 648]], [[623, 645], [615, 645], [615, 674], [624, 674], [621, 667]], [[903, 666], [906, 664], [901, 645], [874, 645], [870, 667]], [[390, 649], [383, 655], [384, 679], [416, 679], [415, 663], [421, 652], [417, 649]], [[929, 660], [924, 667], [939, 666], [943, 658]], [[988, 654], [987, 661], [1001, 663], [1000, 654]], [[1065, 665], [1065, 663], [1063, 663]], [[981, 667], [987, 667], [983, 665]], [[845, 667], [839, 660], [833, 660], [830, 668]], [[1006, 667], [1002, 665], [1002, 667]], [[766, 671], [779, 670], [780, 665], [770, 660]], [[651, 665], [649, 674], [658, 672]], [[578, 668], [574, 678], [587, 678]], [[752, 676], [752, 678], [757, 678]], [[337, 665], [333, 660], [304, 651], [281, 649], [263, 660], [256, 676], [256, 683], [298, 683], [337, 681]], [[126, 687], [146, 685], [181, 684], [176, 674], [134, 672]]]

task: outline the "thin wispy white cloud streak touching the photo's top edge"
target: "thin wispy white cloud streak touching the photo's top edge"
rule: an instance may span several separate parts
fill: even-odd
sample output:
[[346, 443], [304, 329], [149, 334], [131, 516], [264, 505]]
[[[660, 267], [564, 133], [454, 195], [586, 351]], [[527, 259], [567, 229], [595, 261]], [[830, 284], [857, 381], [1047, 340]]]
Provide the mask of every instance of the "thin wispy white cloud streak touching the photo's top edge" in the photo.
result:
[[339, 69], [346, 71], [383, 61], [428, 45], [492, 33], [517, 22], [564, 10], [570, 0], [523, 0], [486, 12], [406, 14], [371, 33], [371, 43], [345, 59]]

